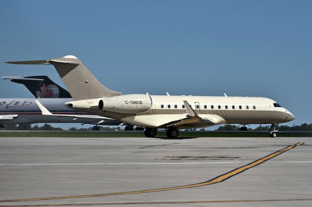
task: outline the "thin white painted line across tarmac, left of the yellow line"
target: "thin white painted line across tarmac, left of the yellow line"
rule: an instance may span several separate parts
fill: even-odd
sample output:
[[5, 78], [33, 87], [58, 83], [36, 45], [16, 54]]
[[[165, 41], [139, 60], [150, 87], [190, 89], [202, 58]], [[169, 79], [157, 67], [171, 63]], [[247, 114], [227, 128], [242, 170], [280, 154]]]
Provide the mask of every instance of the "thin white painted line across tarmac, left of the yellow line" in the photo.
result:
[[29, 163], [0, 164], [0, 166], [44, 166], [44, 165], [194, 165], [194, 164], [233, 164], [239, 162], [142, 162], [142, 163]]

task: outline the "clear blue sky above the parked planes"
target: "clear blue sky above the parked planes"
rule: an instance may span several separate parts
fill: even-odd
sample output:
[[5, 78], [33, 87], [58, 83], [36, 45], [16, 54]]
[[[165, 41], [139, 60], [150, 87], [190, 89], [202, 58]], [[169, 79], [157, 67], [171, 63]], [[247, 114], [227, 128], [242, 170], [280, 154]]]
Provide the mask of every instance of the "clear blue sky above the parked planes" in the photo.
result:
[[[0, 62], [77, 56], [123, 94], [261, 96], [311, 123], [310, 0], [0, 1]], [[53, 66], [0, 63], [0, 75]], [[31, 97], [0, 80], [1, 98]], [[67, 126], [67, 125], [66, 125]]]

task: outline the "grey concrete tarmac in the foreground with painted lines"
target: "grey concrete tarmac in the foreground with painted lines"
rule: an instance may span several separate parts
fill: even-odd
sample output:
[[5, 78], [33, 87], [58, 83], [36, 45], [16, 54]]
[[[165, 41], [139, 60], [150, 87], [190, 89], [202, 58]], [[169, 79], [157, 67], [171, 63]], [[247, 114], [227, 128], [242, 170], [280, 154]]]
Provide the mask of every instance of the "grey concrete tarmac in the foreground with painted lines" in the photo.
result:
[[310, 207], [312, 138], [0, 138], [13, 205]]

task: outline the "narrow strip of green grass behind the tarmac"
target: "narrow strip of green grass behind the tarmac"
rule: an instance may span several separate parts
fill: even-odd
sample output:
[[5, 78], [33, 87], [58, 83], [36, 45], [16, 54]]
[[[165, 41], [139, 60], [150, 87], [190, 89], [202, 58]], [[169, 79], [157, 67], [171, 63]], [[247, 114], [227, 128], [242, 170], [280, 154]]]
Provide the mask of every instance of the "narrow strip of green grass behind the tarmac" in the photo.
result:
[[[311, 132], [278, 132], [278, 137], [312, 137]], [[145, 137], [143, 132], [0, 132], [0, 137]], [[156, 137], [166, 138], [165, 132], [158, 132]], [[179, 138], [241, 138], [241, 137], [269, 137], [269, 132], [180, 132]]]

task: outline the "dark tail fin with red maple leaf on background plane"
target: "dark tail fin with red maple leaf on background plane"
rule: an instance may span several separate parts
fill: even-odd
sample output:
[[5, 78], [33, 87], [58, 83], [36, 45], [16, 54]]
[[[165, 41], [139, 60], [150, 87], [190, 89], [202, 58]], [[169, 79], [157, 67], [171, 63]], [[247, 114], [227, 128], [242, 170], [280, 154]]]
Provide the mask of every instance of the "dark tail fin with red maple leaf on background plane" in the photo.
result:
[[48, 76], [1, 77], [23, 84], [36, 98], [72, 98], [67, 90], [54, 83]]

